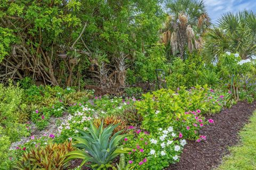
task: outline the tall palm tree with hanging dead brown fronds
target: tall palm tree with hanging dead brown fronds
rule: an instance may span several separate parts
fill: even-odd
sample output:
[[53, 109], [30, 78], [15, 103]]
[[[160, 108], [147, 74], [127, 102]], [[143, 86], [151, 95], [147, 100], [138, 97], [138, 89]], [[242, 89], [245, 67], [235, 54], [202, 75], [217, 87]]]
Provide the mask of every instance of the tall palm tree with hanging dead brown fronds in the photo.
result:
[[185, 50], [189, 52], [202, 47], [201, 35], [210, 26], [203, 1], [166, 0], [167, 19], [163, 28], [163, 43], [170, 45], [172, 55], [182, 59]]

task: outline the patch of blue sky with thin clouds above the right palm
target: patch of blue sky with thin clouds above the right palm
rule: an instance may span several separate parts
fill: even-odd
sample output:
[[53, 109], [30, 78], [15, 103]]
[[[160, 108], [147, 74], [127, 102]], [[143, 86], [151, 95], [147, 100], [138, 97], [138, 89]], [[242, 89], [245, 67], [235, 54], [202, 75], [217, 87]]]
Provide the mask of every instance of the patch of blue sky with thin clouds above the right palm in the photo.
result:
[[216, 23], [223, 13], [235, 13], [244, 9], [256, 12], [256, 0], [204, 0], [204, 2], [213, 23]]

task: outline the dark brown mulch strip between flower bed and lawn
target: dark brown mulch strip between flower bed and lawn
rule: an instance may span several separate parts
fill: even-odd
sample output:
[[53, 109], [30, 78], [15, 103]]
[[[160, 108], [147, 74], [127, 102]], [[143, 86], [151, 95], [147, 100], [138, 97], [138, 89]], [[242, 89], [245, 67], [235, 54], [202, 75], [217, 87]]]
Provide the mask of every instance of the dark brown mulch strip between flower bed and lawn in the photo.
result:
[[206, 135], [205, 142], [188, 141], [180, 162], [171, 165], [168, 170], [213, 169], [221, 163], [223, 156], [228, 154], [228, 147], [238, 143], [238, 131], [248, 122], [256, 108], [256, 102], [248, 104], [245, 101], [219, 114], [209, 116], [214, 124], [205, 126], [200, 134]]

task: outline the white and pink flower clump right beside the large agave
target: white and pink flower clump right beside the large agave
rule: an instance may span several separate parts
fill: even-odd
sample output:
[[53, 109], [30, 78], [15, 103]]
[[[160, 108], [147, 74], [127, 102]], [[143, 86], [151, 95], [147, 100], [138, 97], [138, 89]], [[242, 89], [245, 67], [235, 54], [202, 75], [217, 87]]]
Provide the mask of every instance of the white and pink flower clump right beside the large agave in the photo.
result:
[[135, 169], [163, 169], [170, 163], [178, 162], [181, 150], [186, 145], [186, 140], [181, 139], [182, 134], [174, 131], [172, 126], [159, 128], [156, 134], [137, 134], [137, 139], [131, 137], [124, 142], [125, 146], [132, 148], [128, 163], [135, 165]]

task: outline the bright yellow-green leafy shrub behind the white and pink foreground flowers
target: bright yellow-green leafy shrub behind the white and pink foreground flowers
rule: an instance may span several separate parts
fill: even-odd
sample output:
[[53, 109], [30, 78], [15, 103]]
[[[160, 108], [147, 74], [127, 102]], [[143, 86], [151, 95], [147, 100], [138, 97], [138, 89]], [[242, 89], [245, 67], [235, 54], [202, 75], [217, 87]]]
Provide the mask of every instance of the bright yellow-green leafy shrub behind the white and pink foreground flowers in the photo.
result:
[[[148, 92], [143, 95], [144, 100], [136, 103], [138, 113], [144, 117], [142, 127], [150, 132], [156, 132], [159, 128], [167, 128], [170, 124], [177, 123], [177, 129], [180, 129], [182, 121], [189, 121], [193, 116], [185, 114], [185, 112], [197, 109], [201, 109], [203, 112], [207, 111], [204, 100], [207, 91], [207, 87], [197, 86], [189, 91], [185, 87], [181, 87], [177, 93], [164, 89], [154, 91], [152, 94]], [[177, 120], [181, 120], [181, 122], [178, 123]], [[189, 121], [190, 126], [195, 123], [194, 121]]]

